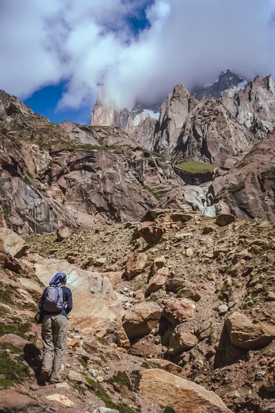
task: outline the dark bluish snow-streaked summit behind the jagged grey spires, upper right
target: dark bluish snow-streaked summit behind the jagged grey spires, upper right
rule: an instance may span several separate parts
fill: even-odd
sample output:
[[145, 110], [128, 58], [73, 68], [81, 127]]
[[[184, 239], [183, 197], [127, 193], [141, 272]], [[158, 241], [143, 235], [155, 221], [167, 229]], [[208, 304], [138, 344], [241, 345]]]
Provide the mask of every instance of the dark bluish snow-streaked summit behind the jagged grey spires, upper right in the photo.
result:
[[212, 96], [213, 98], [220, 99], [225, 90], [243, 89], [247, 83], [247, 81], [231, 72], [231, 70], [225, 70], [221, 72], [217, 81], [212, 85], [195, 87], [192, 93], [199, 100], [204, 96]]

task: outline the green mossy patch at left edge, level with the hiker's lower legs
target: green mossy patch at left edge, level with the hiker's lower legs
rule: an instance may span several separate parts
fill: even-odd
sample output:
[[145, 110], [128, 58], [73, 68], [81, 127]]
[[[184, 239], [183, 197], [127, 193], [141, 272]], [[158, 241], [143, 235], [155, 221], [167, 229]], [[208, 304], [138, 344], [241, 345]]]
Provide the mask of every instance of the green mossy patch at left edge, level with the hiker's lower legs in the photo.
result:
[[29, 375], [28, 367], [25, 366], [21, 357], [17, 356], [12, 359], [10, 356], [11, 352], [18, 354], [19, 350], [11, 344], [1, 344], [0, 386], [2, 388], [10, 388], [15, 383], [22, 383]]

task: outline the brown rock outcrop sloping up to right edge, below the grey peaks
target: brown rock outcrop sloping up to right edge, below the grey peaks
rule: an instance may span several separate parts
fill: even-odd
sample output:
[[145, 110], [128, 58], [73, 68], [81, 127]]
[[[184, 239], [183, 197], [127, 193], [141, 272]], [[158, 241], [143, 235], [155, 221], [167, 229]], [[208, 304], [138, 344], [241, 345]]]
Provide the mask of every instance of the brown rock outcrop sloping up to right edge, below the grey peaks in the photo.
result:
[[225, 176], [216, 178], [209, 192], [214, 207], [243, 218], [275, 220], [275, 134], [259, 142]]

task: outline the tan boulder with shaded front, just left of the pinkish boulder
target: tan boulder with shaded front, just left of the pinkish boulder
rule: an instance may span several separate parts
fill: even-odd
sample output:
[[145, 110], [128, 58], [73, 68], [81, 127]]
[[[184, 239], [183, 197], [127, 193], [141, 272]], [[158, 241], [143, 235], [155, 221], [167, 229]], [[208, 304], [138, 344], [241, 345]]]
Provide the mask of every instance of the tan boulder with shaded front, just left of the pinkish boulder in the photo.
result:
[[142, 302], [127, 311], [122, 325], [129, 340], [148, 335], [157, 327], [161, 315], [162, 309], [154, 302]]

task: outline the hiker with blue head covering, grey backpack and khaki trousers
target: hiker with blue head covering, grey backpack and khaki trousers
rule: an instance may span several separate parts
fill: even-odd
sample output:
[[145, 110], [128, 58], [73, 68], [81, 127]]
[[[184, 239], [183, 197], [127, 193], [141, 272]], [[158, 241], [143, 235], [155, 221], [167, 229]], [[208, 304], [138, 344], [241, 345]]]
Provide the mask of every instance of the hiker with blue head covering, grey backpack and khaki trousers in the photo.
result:
[[45, 288], [39, 301], [41, 310], [43, 362], [39, 384], [60, 383], [61, 364], [67, 343], [67, 315], [73, 308], [72, 291], [67, 288], [67, 275], [57, 273]]

